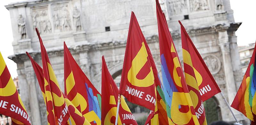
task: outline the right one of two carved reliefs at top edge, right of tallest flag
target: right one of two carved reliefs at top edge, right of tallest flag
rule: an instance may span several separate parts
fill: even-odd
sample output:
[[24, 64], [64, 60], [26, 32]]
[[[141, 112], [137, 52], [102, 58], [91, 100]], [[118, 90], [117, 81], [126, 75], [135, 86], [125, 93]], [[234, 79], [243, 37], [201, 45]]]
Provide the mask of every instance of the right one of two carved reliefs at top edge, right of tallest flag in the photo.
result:
[[190, 11], [209, 10], [208, 0], [189, 0]]

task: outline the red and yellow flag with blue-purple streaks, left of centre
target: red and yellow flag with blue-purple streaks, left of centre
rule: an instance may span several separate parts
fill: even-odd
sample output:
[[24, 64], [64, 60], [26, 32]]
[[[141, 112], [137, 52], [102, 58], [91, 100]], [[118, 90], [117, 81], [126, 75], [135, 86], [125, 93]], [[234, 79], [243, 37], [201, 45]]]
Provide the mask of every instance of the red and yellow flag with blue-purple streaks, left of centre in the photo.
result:
[[65, 95], [91, 122], [101, 125], [101, 95], [86, 77], [64, 42]]

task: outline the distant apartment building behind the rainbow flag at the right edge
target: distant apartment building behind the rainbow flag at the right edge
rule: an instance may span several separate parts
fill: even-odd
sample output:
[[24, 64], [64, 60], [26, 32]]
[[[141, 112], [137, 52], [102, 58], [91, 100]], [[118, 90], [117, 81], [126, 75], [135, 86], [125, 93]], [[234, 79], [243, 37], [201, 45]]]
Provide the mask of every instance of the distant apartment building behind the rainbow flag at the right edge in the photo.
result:
[[247, 46], [238, 46], [243, 74], [246, 72], [247, 67], [250, 63], [254, 46], [255, 46], [255, 43], [248, 44]]

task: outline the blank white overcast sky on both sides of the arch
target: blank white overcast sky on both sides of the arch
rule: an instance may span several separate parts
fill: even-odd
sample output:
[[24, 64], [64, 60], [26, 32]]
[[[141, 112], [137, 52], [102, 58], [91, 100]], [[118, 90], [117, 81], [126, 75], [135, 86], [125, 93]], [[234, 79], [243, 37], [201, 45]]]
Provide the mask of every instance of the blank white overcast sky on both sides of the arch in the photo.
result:
[[[4, 57], [5, 63], [12, 75], [12, 78], [17, 77], [17, 65], [7, 57], [13, 54], [12, 48], [12, 27], [9, 11], [4, 7], [11, 2], [23, 0], [0, 0], [0, 51]], [[246, 45], [254, 43], [256, 40], [256, 0], [230, 0], [231, 9], [234, 10], [234, 18], [236, 22], [243, 22], [236, 31], [237, 44]]]

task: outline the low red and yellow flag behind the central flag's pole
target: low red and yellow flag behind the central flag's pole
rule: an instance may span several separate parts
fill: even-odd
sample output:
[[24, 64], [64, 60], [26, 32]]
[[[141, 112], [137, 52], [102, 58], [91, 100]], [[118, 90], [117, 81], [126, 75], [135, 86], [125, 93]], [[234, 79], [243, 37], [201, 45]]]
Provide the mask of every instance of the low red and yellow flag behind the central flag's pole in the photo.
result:
[[[102, 56], [101, 75], [102, 125], [111, 125], [115, 124], [116, 120], [118, 88], [108, 71], [104, 56]], [[138, 125], [123, 97], [121, 97], [117, 123], [118, 125], [121, 125], [122, 123], [125, 125]]]

